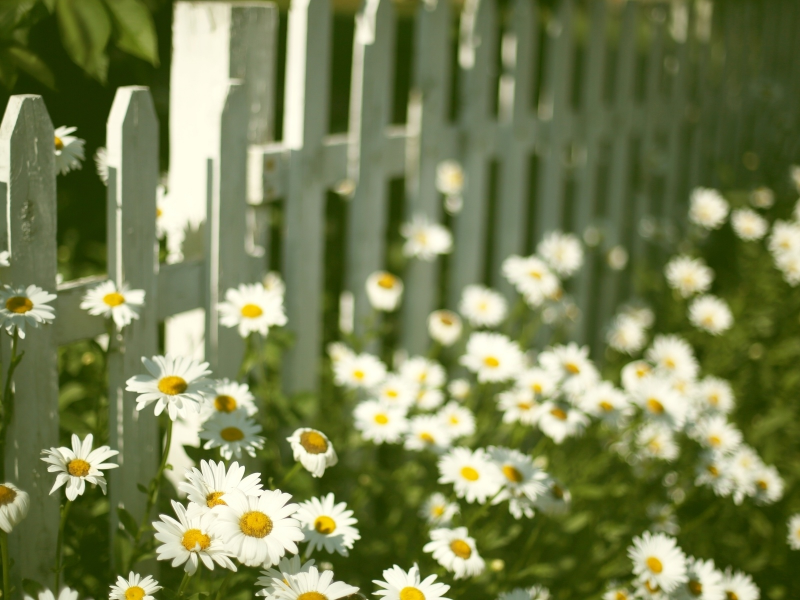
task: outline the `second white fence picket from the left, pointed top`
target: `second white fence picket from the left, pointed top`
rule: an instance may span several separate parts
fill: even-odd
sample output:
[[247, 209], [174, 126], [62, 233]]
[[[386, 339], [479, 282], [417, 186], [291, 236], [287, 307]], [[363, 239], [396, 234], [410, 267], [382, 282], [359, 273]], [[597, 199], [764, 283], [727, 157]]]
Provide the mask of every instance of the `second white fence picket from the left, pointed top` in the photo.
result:
[[[109, 472], [112, 543], [117, 507], [141, 519], [147, 486], [159, 457], [158, 419], [152, 407], [136, 410], [128, 378], [143, 372], [142, 357], [158, 353], [158, 117], [145, 87], [121, 87], [108, 117], [108, 276], [119, 286], [145, 290], [138, 320], [125, 327], [108, 357], [109, 441], [119, 469]], [[115, 346], [117, 350], [115, 351]]]

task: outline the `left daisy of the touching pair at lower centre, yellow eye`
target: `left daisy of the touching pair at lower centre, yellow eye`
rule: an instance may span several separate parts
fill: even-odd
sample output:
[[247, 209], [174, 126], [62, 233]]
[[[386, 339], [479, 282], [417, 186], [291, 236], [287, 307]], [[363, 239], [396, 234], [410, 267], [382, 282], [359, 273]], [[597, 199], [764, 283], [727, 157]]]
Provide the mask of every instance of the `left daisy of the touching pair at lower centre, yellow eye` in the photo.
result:
[[452, 483], [456, 495], [483, 504], [500, 491], [502, 474], [482, 448], [452, 448], [439, 459], [439, 483]]

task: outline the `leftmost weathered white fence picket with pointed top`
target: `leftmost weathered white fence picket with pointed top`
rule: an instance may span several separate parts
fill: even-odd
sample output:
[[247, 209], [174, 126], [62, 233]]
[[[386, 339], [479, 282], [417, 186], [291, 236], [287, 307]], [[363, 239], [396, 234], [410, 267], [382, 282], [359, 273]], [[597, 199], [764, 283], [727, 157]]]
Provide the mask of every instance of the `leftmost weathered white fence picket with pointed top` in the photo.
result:
[[[56, 173], [53, 124], [41, 96], [12, 96], [0, 126], [0, 181], [11, 267], [4, 277], [15, 286], [35, 284], [56, 291]], [[3, 187], [3, 186], [0, 186]], [[5, 203], [8, 202], [6, 206]], [[55, 306], [55, 302], [51, 303]], [[56, 314], [56, 320], [59, 315]], [[2, 334], [2, 369], [10, 345]], [[25, 352], [14, 376], [15, 410], [6, 440], [5, 477], [30, 494], [28, 516], [10, 536], [12, 576], [49, 582], [58, 536], [59, 499], [50, 495], [55, 476], [41, 460], [58, 446], [58, 349], [56, 328], [28, 328]]]

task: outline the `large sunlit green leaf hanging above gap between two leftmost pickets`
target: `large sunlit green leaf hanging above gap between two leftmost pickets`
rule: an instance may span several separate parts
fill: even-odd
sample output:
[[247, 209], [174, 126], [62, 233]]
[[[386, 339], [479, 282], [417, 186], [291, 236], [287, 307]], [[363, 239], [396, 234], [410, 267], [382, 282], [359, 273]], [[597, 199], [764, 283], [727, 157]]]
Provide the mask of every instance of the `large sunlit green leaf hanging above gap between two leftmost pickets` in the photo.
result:
[[56, 0], [56, 15], [70, 58], [101, 83], [108, 74], [111, 19], [100, 0]]

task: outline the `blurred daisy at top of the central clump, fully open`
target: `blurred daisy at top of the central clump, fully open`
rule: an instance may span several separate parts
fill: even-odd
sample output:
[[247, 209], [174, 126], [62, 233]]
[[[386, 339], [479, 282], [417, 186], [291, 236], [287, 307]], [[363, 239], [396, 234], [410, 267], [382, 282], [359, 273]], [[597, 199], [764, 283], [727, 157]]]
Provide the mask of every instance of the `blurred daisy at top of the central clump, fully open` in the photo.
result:
[[478, 375], [478, 381], [507, 381], [524, 366], [522, 350], [500, 333], [476, 332], [469, 336], [467, 351], [459, 362]]

